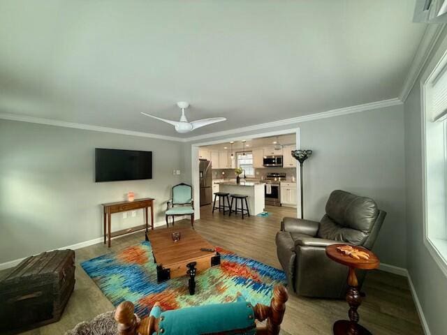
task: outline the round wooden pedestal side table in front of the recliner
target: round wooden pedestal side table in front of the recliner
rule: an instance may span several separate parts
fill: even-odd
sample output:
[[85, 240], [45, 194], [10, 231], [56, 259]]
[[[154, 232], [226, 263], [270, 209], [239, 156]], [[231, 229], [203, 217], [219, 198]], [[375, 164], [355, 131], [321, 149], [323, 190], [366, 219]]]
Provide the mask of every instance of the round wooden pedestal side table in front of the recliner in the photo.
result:
[[374, 253], [362, 248], [361, 246], [353, 246], [361, 251], [365, 251], [369, 255], [369, 260], [356, 260], [349, 255], [337, 250], [337, 247], [344, 246], [346, 244], [332, 244], [332, 246], [326, 247], [326, 255], [331, 260], [339, 262], [342, 265], [349, 267], [348, 274], [348, 292], [346, 292], [346, 301], [349, 304], [349, 320], [338, 320], [334, 324], [335, 335], [371, 335], [371, 333], [361, 325], [358, 324], [358, 312], [357, 308], [362, 302], [360, 292], [358, 291], [358, 281], [356, 276], [356, 269], [371, 270], [379, 267], [380, 261]]

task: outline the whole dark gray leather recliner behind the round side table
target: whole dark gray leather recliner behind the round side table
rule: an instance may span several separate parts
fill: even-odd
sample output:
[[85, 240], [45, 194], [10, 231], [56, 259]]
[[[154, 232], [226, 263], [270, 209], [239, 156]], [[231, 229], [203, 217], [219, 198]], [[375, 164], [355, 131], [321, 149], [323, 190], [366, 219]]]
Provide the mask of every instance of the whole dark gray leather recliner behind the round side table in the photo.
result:
[[[386, 216], [370, 198], [333, 191], [321, 222], [283, 218], [276, 244], [288, 287], [307, 297], [343, 298], [348, 267], [330, 260], [325, 247], [353, 244], [371, 249]], [[359, 287], [365, 271], [357, 270]]]

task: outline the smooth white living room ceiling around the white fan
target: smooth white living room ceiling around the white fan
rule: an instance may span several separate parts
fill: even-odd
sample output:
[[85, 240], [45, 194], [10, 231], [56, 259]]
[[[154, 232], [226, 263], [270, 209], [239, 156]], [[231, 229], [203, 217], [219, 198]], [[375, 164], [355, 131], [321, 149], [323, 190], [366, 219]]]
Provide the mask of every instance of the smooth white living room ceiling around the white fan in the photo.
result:
[[[191, 136], [395, 98], [413, 0], [0, 1], [0, 113]], [[228, 121], [179, 135], [140, 114]]]

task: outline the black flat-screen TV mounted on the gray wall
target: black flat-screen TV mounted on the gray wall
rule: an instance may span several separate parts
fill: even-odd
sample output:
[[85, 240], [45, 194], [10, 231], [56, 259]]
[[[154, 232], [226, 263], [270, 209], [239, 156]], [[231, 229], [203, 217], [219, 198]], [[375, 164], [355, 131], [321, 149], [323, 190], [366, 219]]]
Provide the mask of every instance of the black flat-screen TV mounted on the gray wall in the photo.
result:
[[152, 151], [95, 149], [98, 181], [152, 179]]

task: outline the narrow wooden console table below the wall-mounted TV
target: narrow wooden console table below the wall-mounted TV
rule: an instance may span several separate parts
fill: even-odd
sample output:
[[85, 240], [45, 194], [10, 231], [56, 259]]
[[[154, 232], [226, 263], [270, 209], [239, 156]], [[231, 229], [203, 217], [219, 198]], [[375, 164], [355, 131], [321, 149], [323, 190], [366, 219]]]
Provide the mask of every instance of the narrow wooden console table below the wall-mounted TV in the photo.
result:
[[[149, 211], [149, 207], [151, 209], [151, 229], [154, 229], [154, 199], [152, 198], [142, 198], [135, 199], [133, 201], [117, 201], [117, 202], [109, 202], [108, 204], [103, 205], [103, 216], [104, 216], [104, 244], [108, 239], [108, 246], [110, 248], [110, 239], [115, 236], [129, 234], [129, 232], [135, 232], [137, 230], [146, 229], [148, 232], [149, 223], [147, 221], [147, 215]], [[120, 213], [122, 211], [132, 211], [133, 209], [144, 209], [145, 211], [145, 224], [138, 225], [133, 228], [119, 230], [117, 232], [112, 232], [111, 223], [112, 223], [112, 214]]]

